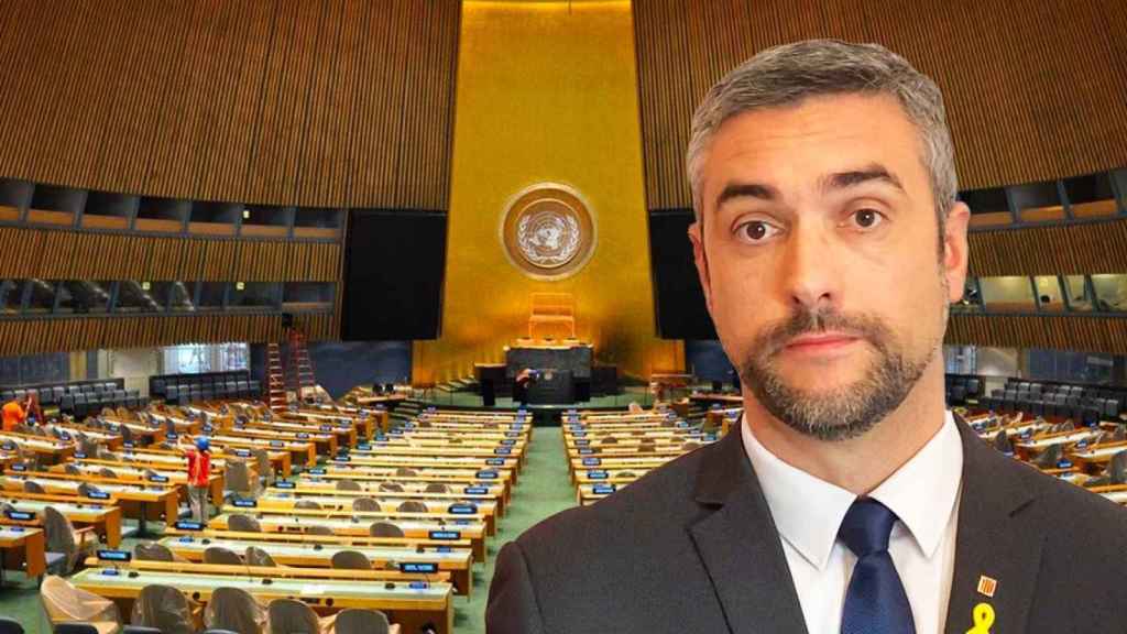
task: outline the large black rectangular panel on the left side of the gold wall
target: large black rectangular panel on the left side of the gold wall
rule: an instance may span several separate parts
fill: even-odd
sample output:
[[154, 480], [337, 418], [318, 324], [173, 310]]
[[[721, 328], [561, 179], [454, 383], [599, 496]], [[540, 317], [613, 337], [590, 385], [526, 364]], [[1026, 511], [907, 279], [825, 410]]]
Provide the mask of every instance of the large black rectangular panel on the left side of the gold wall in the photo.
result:
[[437, 338], [446, 213], [355, 209], [347, 236], [340, 338]]

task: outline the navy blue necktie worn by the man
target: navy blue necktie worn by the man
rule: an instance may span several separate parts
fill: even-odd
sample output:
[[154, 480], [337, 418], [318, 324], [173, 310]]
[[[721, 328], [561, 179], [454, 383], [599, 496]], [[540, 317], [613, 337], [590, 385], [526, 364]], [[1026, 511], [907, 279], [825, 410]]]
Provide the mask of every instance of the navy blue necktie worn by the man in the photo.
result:
[[837, 538], [857, 555], [842, 610], [841, 634], [915, 634], [912, 606], [888, 554], [896, 513], [872, 499], [858, 499]]

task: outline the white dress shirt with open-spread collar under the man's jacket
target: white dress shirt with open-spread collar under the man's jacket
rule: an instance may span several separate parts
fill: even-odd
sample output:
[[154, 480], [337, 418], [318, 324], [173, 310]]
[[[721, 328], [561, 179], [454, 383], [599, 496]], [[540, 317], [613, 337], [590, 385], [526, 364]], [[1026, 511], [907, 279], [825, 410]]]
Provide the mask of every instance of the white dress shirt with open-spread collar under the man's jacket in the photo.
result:
[[[857, 556], [837, 540], [837, 529], [857, 496], [783, 463], [749, 425], [740, 421], [739, 426], [782, 537], [806, 628], [809, 634], [838, 634]], [[947, 619], [961, 475], [962, 441], [948, 412], [935, 435], [870, 494], [899, 518], [888, 552], [920, 634], [941, 634]]]

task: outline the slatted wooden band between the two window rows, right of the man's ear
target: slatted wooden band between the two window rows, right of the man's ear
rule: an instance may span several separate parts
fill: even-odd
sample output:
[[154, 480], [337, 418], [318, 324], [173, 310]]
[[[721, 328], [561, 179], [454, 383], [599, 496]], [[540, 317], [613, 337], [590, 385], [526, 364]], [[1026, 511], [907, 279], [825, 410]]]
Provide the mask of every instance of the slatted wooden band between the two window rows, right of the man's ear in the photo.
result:
[[1127, 220], [974, 231], [969, 240], [971, 275], [1127, 272]]

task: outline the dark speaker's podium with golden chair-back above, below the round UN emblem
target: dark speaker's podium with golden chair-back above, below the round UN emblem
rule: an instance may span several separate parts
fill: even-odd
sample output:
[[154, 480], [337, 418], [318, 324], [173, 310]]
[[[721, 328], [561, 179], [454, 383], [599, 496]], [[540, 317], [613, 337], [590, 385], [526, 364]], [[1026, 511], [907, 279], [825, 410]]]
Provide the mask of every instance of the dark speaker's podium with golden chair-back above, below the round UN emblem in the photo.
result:
[[594, 349], [576, 340], [575, 299], [568, 293], [532, 293], [529, 336], [505, 349], [505, 377], [533, 370], [527, 384], [530, 405], [567, 405], [591, 399], [591, 366]]

